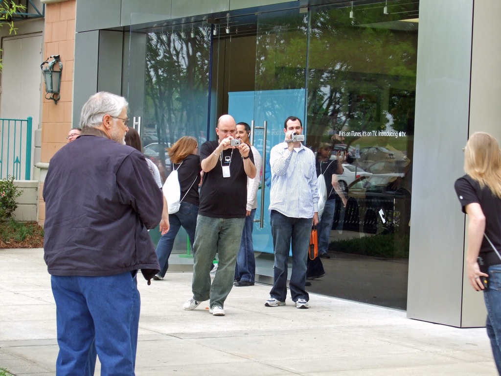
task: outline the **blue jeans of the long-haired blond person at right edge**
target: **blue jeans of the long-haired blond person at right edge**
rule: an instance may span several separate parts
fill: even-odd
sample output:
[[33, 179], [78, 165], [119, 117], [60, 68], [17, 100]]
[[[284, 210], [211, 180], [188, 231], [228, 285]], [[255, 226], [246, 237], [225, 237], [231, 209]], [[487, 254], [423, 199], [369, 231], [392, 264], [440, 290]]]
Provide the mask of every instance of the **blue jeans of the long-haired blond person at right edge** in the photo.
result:
[[483, 293], [487, 308], [485, 327], [497, 372], [501, 374], [501, 264], [489, 266], [487, 274], [489, 288]]

